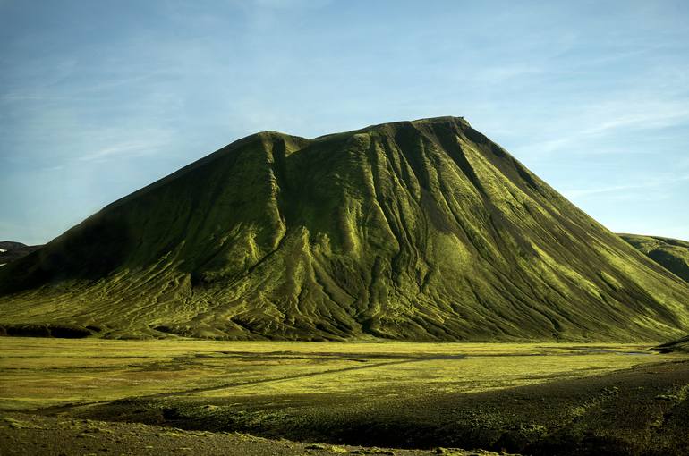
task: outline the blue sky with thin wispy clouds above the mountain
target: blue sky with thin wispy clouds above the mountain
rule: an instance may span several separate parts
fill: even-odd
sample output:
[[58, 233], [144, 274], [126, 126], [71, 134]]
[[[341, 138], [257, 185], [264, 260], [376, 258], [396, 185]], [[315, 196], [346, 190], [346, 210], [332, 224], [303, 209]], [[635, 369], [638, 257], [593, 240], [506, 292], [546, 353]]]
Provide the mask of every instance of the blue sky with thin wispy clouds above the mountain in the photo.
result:
[[689, 2], [0, 0], [0, 238], [255, 131], [464, 116], [617, 232], [689, 240]]

